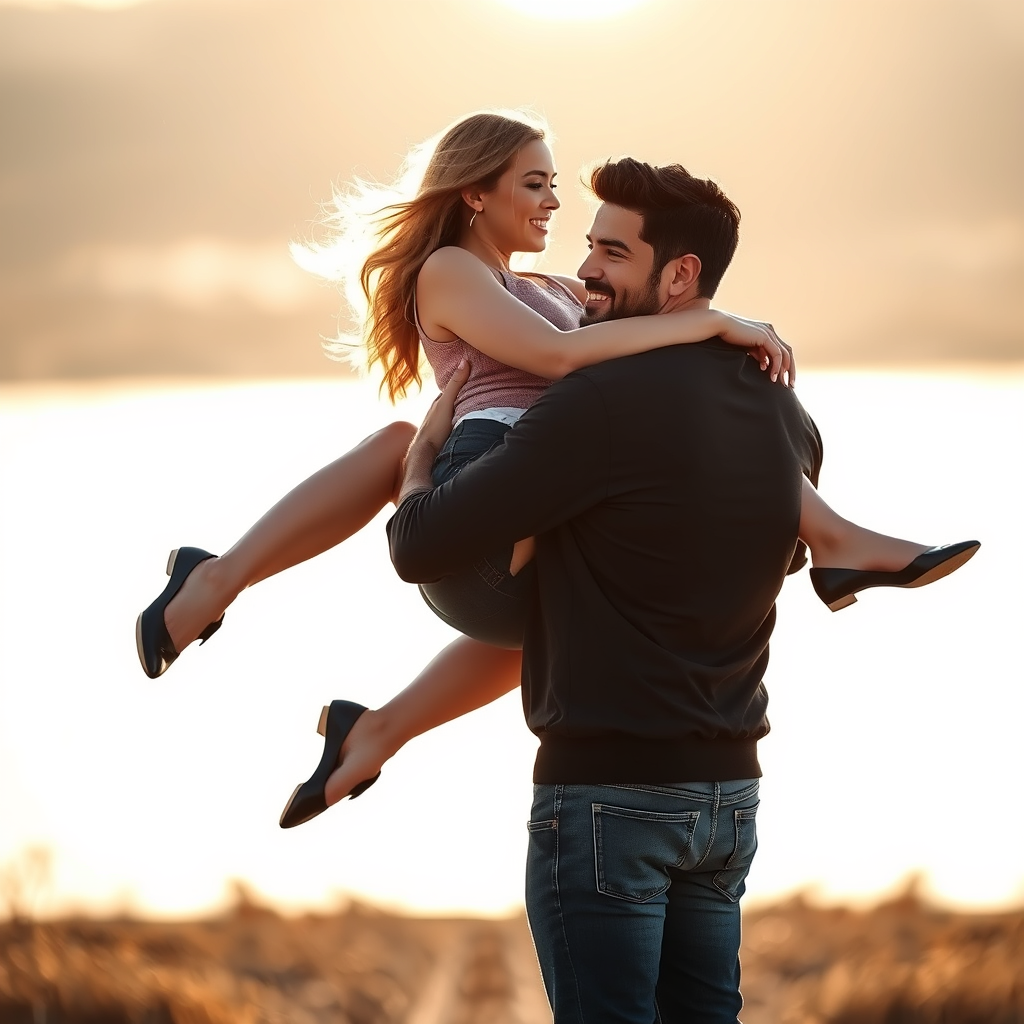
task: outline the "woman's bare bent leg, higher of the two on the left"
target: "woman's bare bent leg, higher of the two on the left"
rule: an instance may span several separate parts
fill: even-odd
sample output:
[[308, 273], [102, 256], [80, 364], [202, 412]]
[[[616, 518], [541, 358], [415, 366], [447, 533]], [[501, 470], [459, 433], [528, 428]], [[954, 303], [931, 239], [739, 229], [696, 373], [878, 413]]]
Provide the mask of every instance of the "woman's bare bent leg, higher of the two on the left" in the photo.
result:
[[219, 558], [200, 562], [167, 605], [164, 623], [182, 651], [247, 587], [318, 555], [361, 529], [401, 483], [416, 427], [392, 423], [289, 492]]

